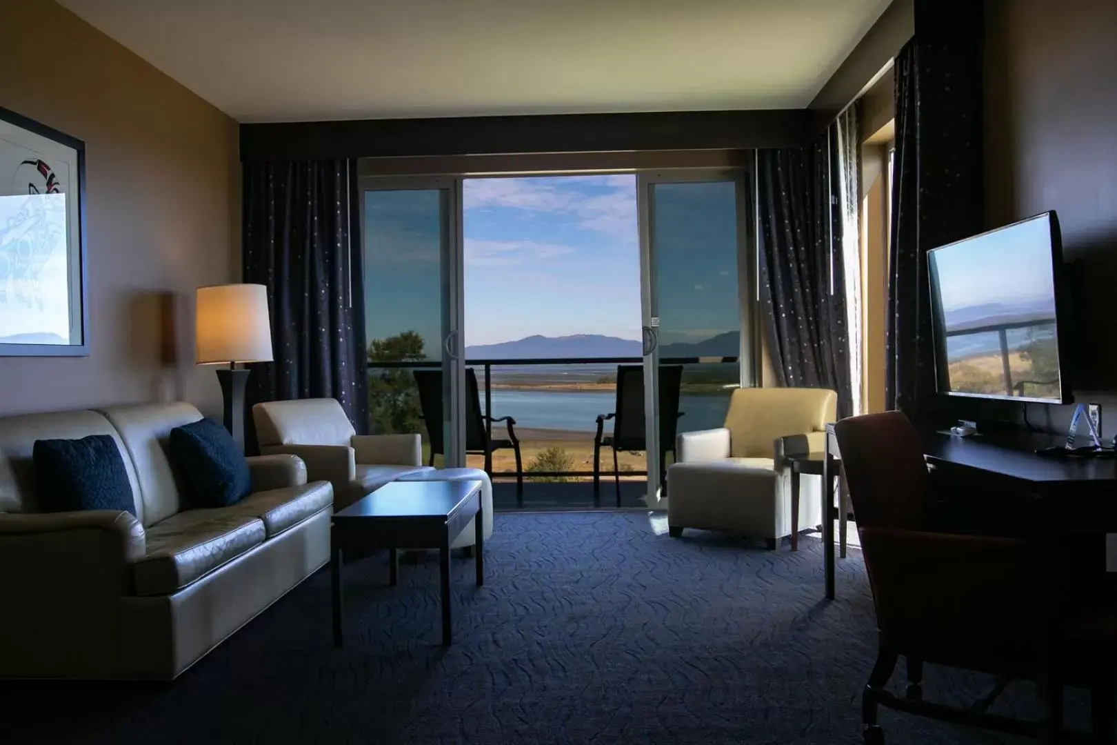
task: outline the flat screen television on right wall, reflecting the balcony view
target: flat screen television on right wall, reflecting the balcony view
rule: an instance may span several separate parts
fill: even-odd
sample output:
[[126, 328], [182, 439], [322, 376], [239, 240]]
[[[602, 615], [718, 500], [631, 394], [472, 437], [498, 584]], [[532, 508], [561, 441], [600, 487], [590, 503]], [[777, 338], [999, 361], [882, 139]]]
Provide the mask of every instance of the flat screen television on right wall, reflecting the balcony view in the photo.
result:
[[1053, 211], [933, 249], [927, 265], [939, 393], [1071, 402]]

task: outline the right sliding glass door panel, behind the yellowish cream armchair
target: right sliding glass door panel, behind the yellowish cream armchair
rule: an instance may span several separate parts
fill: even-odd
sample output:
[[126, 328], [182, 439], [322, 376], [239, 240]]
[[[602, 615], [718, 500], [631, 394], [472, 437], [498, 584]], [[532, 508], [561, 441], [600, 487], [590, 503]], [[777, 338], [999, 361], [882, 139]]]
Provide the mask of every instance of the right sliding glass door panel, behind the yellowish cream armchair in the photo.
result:
[[[638, 179], [649, 506], [660, 505], [679, 432], [720, 427], [754, 382], [746, 174]], [[745, 332], [745, 333], [742, 333]], [[681, 370], [680, 370], [681, 369]], [[680, 374], [681, 372], [681, 374]]]

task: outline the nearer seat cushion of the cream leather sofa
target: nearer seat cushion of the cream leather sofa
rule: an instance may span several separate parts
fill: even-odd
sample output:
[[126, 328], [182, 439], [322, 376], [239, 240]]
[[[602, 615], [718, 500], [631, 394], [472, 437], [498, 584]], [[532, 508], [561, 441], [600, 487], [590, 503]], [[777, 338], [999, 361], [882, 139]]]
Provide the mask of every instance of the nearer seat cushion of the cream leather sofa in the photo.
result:
[[178, 592], [264, 543], [264, 522], [232, 508], [190, 509], [147, 528], [147, 553], [133, 569], [139, 595]]

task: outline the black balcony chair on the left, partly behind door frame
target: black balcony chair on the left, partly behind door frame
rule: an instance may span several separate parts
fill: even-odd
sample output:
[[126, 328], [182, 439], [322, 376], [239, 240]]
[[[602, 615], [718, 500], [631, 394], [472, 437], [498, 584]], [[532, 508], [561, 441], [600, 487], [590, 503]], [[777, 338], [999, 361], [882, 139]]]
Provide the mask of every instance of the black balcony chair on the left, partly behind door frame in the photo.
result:
[[[414, 378], [419, 386], [419, 407], [422, 409], [422, 420], [427, 424], [427, 437], [430, 442], [428, 465], [433, 466], [436, 455], [446, 455], [442, 433], [442, 371], [416, 370]], [[508, 429], [508, 438], [489, 439], [486, 421], [504, 422]], [[466, 367], [466, 453], [485, 456], [485, 472], [493, 478], [493, 452], [512, 448], [516, 453], [516, 499], [519, 506], [523, 506], [524, 461], [519, 453], [519, 440], [516, 439], [515, 427], [516, 420], [512, 417], [493, 419], [481, 411], [477, 373], [472, 367]]]

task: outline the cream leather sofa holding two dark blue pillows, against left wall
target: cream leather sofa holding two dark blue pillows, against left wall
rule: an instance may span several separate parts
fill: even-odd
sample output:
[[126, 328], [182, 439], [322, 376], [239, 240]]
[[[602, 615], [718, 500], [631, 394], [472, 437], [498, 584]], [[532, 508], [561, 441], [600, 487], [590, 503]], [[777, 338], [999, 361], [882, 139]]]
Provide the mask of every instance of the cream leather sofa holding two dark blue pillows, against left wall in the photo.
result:
[[[183, 510], [164, 449], [187, 403], [0, 419], [0, 677], [170, 680], [330, 557], [333, 490], [250, 458], [254, 494]], [[38, 513], [35, 441], [109, 434], [136, 516]]]

